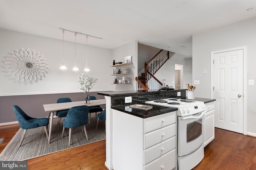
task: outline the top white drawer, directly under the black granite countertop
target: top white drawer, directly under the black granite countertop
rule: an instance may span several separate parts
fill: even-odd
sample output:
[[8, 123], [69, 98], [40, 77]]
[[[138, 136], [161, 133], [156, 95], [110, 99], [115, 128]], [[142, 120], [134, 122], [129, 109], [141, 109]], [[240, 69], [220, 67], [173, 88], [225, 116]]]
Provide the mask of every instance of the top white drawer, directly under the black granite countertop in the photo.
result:
[[143, 132], [148, 133], [156, 129], [160, 129], [162, 127], [166, 127], [168, 125], [176, 123], [176, 111], [172, 111], [170, 113], [165, 113], [158, 116], [148, 117], [143, 121]]

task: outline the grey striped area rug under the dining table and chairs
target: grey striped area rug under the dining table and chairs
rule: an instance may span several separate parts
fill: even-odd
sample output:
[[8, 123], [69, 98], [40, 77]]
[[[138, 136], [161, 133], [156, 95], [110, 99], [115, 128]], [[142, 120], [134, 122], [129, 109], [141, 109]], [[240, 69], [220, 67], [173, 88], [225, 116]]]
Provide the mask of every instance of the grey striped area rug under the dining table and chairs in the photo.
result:
[[22, 161], [39, 156], [59, 152], [66, 149], [86, 145], [96, 141], [106, 139], [105, 121], [100, 120], [98, 129], [96, 130], [97, 118], [93, 114], [91, 116], [90, 124], [86, 125], [86, 131], [88, 135], [88, 141], [85, 134], [82, 132], [82, 127], [72, 128], [72, 138], [70, 147], [68, 147], [68, 129], [65, 129], [65, 133], [62, 135], [62, 122], [57, 125], [59, 118], [53, 119], [51, 143], [48, 145], [44, 127], [38, 127], [35, 129], [28, 129], [22, 146], [19, 147], [20, 138], [22, 136], [23, 129], [19, 129], [14, 135], [8, 145], [4, 148], [0, 154], [1, 161]]

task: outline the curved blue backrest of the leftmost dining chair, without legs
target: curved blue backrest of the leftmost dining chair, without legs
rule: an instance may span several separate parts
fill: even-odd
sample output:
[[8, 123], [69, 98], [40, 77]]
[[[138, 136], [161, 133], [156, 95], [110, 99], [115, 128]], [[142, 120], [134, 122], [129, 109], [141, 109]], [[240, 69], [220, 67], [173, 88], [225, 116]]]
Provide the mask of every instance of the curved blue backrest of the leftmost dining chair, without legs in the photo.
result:
[[32, 129], [38, 127], [37, 124], [30, 123], [28, 120], [35, 119], [33, 117], [28, 116], [19, 106], [14, 105], [13, 106], [14, 113], [18, 119], [18, 122], [20, 124], [20, 127], [22, 129]]

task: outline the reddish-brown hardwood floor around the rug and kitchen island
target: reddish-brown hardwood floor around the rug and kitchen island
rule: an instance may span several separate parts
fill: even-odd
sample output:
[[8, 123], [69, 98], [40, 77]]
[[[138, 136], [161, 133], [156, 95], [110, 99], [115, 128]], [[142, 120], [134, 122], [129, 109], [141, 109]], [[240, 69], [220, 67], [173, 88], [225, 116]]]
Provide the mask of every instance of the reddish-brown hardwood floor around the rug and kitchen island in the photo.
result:
[[[0, 152], [12, 139], [19, 125], [0, 127]], [[25, 139], [26, 140], [26, 139]], [[28, 160], [29, 170], [108, 170], [106, 141], [56, 152]], [[215, 128], [215, 139], [204, 148], [204, 159], [194, 170], [256, 170], [256, 138]]]

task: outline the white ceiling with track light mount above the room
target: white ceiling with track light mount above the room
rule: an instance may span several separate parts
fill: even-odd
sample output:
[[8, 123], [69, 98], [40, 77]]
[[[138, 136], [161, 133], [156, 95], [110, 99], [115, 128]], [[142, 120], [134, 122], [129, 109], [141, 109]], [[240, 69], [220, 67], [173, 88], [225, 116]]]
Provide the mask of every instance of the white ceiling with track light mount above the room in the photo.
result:
[[[247, 11], [248, 8], [254, 8]], [[192, 57], [192, 35], [256, 17], [256, 0], [0, 0], [0, 28], [88, 45], [140, 43]], [[65, 31], [65, 41], [75, 41]], [[86, 36], [77, 35], [86, 44]]]

